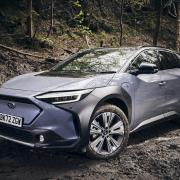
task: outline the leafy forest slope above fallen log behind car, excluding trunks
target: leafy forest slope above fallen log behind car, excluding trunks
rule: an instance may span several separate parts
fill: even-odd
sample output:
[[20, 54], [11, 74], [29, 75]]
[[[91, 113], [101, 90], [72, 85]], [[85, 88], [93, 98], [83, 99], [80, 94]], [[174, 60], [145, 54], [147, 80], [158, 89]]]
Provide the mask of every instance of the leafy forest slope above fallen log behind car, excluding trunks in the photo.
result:
[[[62, 48], [78, 51], [100, 45], [119, 46], [120, 5], [117, 1], [55, 1], [53, 34], [50, 36], [50, 2], [33, 1], [33, 41], [26, 36], [25, 2], [0, 1], [1, 44], [58, 57]], [[141, 1], [131, 1], [124, 6], [123, 46], [152, 44], [156, 11], [146, 3], [138, 2]], [[175, 19], [163, 14], [159, 45], [175, 47], [175, 27]]]

